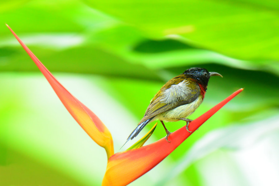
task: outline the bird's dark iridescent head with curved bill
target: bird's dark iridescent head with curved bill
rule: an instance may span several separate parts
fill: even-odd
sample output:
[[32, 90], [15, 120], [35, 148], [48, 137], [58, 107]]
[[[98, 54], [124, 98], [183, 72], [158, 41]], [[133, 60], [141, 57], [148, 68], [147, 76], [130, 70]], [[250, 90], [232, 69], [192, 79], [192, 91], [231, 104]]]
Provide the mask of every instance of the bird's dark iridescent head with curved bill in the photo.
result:
[[[184, 74], [189, 78], [193, 78], [197, 80], [199, 84], [206, 88], [208, 80], [211, 76], [221, 76], [221, 74], [217, 72], [208, 72], [206, 69], [203, 68], [190, 68], [187, 69]], [[221, 76], [223, 77], [223, 76]]]

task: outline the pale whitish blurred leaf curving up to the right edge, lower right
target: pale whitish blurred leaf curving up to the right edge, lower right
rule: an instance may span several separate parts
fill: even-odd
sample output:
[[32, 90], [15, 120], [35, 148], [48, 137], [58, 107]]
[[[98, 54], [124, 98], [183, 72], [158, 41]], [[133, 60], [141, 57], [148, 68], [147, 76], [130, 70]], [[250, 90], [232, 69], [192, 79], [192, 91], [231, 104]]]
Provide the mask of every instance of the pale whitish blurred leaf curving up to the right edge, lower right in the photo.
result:
[[[275, 113], [278, 112], [278, 109], [269, 110], [269, 112]], [[275, 116], [258, 122], [224, 127], [207, 133], [201, 139], [197, 140], [193, 147], [184, 153], [183, 157], [176, 162], [176, 166], [169, 170], [165, 176], [162, 176], [162, 179], [157, 185], [169, 185], [172, 179], [175, 179], [176, 176], [181, 174], [184, 170], [187, 170], [187, 168], [197, 160], [219, 149], [231, 149], [232, 151], [236, 151], [237, 149], [247, 146], [257, 145], [259, 140], [269, 136], [272, 131], [276, 131], [276, 134], [278, 134], [278, 119], [279, 117]], [[276, 153], [278, 154], [279, 152], [277, 151]], [[255, 168], [255, 170], [261, 171], [259, 168]], [[191, 177], [190, 172], [187, 174], [187, 177]], [[243, 178], [240, 180], [243, 180]]]

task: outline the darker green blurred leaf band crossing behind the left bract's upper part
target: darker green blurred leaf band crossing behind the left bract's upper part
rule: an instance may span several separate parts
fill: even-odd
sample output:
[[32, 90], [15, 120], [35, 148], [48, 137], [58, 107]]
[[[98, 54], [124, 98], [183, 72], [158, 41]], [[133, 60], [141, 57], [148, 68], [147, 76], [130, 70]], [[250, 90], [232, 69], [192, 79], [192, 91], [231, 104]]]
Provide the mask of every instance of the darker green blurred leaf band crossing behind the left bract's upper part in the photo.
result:
[[[40, 47], [30, 47], [30, 49], [36, 55], [39, 53], [38, 58], [51, 72], [94, 73], [110, 77], [160, 79], [157, 73], [142, 64], [129, 63], [127, 60], [95, 47], [73, 47], [60, 52]], [[5, 57], [2, 58], [1, 71], [38, 71], [23, 50], [5, 48], [3, 51]]]

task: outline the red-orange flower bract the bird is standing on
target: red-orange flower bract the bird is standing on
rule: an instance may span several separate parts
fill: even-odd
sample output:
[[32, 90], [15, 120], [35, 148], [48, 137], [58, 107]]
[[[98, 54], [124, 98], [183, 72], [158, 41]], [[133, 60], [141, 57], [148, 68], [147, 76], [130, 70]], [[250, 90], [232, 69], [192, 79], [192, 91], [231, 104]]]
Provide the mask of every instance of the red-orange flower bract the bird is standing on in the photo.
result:
[[[209, 111], [192, 121], [189, 131], [196, 131], [208, 118], [215, 114], [228, 101], [240, 93], [240, 89], [228, 98], [211, 108]], [[170, 134], [168, 140], [162, 138], [152, 144], [141, 148], [131, 149], [125, 152], [116, 153], [108, 159], [107, 170], [103, 179], [103, 186], [127, 185], [148, 172], [165, 157], [167, 157], [176, 147], [178, 147], [192, 133], [187, 132], [185, 126]]]

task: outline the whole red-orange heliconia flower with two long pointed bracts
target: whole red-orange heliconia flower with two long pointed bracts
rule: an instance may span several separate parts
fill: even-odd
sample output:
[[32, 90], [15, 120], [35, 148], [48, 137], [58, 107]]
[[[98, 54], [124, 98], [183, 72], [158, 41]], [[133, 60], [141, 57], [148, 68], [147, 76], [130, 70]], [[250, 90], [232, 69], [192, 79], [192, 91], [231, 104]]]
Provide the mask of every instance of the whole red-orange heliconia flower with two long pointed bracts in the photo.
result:
[[[7, 24], [6, 24], [7, 25]], [[150, 135], [153, 133], [157, 123], [152, 129], [132, 147], [126, 151], [114, 153], [113, 139], [108, 128], [101, 120], [69, 91], [67, 91], [60, 82], [47, 70], [47, 68], [38, 60], [38, 58], [29, 50], [20, 38], [11, 30], [15, 38], [20, 42], [24, 50], [29, 54], [34, 63], [43, 73], [51, 87], [58, 95], [69, 113], [83, 128], [83, 130], [101, 147], [106, 150], [108, 157], [107, 169], [103, 178], [103, 186], [122, 186], [127, 185], [144, 175], [154, 166], [167, 157], [175, 148], [177, 148], [185, 139], [194, 133], [208, 118], [215, 114], [221, 107], [227, 104], [232, 98], [239, 94], [243, 89], [232, 93], [226, 99], [215, 105], [209, 111], [191, 122], [187, 132], [185, 126], [174, 131], [169, 136], [171, 143], [162, 138], [152, 144], [143, 146]]]

